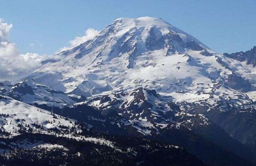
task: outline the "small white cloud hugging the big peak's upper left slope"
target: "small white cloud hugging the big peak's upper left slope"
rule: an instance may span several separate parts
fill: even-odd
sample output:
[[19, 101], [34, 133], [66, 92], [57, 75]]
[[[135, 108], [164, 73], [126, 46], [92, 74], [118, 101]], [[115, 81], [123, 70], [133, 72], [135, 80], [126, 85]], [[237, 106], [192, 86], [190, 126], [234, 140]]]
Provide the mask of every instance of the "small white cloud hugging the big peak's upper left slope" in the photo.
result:
[[84, 43], [88, 40], [93, 39], [95, 36], [99, 34], [99, 31], [93, 28], [89, 28], [85, 31], [85, 36], [75, 37], [75, 39], [70, 40], [68, 42], [69, 46], [60, 48], [59, 52], [69, 50], [76, 46], [79, 46], [81, 43]]

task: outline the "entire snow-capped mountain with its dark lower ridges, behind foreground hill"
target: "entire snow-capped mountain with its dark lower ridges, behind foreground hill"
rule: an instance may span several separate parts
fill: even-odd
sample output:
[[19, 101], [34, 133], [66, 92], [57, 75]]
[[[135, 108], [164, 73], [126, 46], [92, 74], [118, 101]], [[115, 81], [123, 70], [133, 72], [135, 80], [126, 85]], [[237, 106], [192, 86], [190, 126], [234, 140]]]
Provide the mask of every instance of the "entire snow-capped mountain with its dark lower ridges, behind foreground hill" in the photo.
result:
[[255, 161], [248, 146], [256, 141], [256, 71], [247, 54], [241, 61], [215, 52], [160, 18], [119, 18], [4, 95], [104, 134], [179, 145], [209, 165], [241, 165]]

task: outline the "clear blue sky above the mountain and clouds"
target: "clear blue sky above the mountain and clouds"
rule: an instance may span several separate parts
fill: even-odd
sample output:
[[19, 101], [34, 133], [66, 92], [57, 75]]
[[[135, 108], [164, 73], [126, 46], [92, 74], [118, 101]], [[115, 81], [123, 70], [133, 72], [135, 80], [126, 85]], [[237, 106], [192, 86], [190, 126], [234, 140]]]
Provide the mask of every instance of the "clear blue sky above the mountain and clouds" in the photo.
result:
[[20, 53], [41, 55], [88, 28], [141, 16], [163, 18], [215, 51], [246, 51], [256, 45], [255, 9], [255, 0], [0, 0], [0, 18], [13, 24], [9, 40]]

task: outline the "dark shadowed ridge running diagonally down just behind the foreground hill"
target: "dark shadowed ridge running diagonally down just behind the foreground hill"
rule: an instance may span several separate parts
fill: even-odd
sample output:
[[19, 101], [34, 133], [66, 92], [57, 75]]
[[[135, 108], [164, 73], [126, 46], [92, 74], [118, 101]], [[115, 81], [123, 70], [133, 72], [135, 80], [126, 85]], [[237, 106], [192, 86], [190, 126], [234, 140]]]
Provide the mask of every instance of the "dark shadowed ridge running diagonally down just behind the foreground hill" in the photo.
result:
[[[175, 121], [166, 124], [145, 122], [141, 119], [131, 121], [115, 111], [107, 111], [102, 114], [101, 110], [94, 110], [93, 107], [87, 104], [76, 104], [64, 108], [55, 107], [49, 110], [54, 110], [54, 113], [59, 115], [75, 118], [78, 122], [86, 124], [90, 130], [97, 130], [106, 135], [144, 138], [178, 145], [208, 165], [253, 165], [244, 159], [252, 157], [251, 150], [230, 138], [223, 130], [220, 132], [218, 127], [214, 127], [207, 118], [201, 117], [202, 115], [180, 115], [180, 121], [183, 123], [190, 122], [194, 128], [203, 128], [203, 130], [208, 131], [206, 134], [209, 134], [208, 137], [212, 138], [211, 141]], [[192, 120], [185, 119], [185, 117], [190, 117]], [[201, 118], [198, 119], [197, 117]], [[208, 122], [209, 127], [208, 125], [201, 127], [204, 122]], [[200, 129], [197, 131], [200, 131]], [[213, 143], [218, 142], [214, 138], [221, 140], [218, 143], [219, 145]]]

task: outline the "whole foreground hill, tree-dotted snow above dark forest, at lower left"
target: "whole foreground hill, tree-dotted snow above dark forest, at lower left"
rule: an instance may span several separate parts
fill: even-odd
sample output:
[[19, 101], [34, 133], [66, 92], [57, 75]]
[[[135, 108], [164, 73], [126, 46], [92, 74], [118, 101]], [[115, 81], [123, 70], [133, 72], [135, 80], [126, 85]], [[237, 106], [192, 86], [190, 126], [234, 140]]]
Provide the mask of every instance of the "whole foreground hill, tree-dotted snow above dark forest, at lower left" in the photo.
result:
[[[0, 163], [3, 165], [102, 165], [102, 162], [108, 165], [114, 162], [115, 165], [154, 165], [156, 162], [204, 165], [178, 146], [90, 132], [74, 120], [10, 97], [0, 96], [0, 109]], [[161, 154], [166, 157], [157, 161], [150, 158]]]

